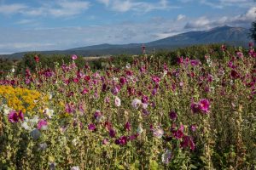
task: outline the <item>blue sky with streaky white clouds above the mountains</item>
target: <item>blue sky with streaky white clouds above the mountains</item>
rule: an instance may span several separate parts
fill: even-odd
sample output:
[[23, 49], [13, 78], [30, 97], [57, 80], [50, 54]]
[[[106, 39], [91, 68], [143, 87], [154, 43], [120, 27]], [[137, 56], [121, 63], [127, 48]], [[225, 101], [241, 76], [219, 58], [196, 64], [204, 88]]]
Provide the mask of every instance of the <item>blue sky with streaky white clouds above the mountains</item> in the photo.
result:
[[255, 0], [0, 0], [0, 54], [151, 42], [255, 20]]

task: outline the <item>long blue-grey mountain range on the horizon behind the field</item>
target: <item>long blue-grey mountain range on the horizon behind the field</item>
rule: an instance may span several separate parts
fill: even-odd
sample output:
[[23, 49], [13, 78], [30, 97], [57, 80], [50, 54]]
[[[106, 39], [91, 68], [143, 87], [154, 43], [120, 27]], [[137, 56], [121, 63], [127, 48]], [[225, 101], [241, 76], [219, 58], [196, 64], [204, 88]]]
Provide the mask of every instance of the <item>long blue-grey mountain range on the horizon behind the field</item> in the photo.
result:
[[[154, 42], [144, 43], [147, 51], [154, 49], [181, 48], [196, 44], [227, 43], [236, 46], [247, 46], [249, 30], [241, 27], [219, 26], [207, 31], [189, 31], [172, 37], [166, 37]], [[59, 51], [38, 51], [41, 54], [79, 54], [84, 56], [141, 54], [142, 43], [108, 44], [71, 48]], [[20, 58], [28, 52], [4, 55], [9, 58]]]

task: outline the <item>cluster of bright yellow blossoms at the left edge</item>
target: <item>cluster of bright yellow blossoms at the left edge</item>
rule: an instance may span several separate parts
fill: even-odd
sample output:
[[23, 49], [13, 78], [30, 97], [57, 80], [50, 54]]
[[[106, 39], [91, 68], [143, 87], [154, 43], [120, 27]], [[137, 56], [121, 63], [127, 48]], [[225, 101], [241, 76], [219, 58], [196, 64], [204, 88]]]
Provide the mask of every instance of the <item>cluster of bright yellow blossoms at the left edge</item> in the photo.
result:
[[0, 86], [0, 97], [6, 100], [9, 108], [23, 113], [32, 112], [36, 105], [46, 100], [36, 90], [13, 88], [11, 86]]

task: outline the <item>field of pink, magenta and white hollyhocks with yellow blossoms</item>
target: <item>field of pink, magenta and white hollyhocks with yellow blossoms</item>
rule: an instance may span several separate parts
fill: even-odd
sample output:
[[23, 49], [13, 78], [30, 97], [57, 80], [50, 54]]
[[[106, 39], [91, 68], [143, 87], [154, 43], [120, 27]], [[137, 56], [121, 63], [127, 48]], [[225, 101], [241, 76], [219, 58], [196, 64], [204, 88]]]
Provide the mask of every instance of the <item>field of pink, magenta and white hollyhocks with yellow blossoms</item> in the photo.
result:
[[[221, 48], [221, 47], [220, 47]], [[0, 81], [0, 169], [256, 169], [256, 52]]]

